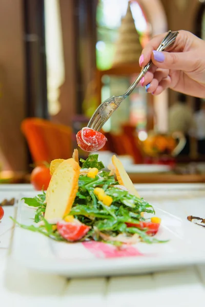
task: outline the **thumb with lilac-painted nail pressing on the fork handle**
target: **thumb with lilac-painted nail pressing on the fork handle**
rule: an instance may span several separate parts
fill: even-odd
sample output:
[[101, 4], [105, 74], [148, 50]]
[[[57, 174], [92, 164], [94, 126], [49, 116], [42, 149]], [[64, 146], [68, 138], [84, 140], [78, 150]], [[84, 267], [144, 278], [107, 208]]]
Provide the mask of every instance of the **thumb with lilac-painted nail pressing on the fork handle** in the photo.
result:
[[152, 61], [158, 68], [192, 71], [196, 67], [196, 57], [190, 52], [152, 52]]

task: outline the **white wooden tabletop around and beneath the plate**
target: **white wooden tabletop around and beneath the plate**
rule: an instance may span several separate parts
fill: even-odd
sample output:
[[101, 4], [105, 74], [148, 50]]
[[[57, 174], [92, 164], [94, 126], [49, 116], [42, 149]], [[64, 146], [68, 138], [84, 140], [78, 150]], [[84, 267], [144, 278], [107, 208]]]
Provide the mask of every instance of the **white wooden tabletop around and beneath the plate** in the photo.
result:
[[[178, 215], [205, 217], [205, 184], [137, 185], [149, 202]], [[0, 201], [32, 191], [30, 185], [0, 186]], [[0, 223], [0, 293], [1, 305], [20, 307], [136, 307], [193, 306], [203, 304], [205, 266], [191, 266], [155, 274], [109, 278], [67, 279], [31, 272], [16, 266], [9, 258], [15, 207], [5, 207]]]

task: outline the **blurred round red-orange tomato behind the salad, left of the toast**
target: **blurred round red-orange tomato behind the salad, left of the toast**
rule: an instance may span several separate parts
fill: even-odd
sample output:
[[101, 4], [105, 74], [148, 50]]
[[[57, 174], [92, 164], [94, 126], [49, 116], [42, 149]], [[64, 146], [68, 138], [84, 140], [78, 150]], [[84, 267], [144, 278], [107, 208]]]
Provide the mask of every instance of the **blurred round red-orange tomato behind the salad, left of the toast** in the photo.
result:
[[31, 172], [31, 183], [37, 191], [47, 190], [50, 180], [50, 169], [46, 166], [36, 166]]

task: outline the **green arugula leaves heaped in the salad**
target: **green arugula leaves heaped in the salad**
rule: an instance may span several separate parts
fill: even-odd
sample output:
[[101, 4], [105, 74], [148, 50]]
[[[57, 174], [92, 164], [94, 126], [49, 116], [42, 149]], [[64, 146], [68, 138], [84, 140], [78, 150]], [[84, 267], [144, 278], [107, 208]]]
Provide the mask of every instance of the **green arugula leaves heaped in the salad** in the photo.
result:
[[[90, 155], [83, 163], [83, 168], [96, 167], [101, 170], [104, 167], [102, 162], [98, 161], [98, 155]], [[145, 221], [141, 217], [141, 212], [154, 214], [153, 207], [143, 198], [137, 198], [126, 190], [117, 187], [118, 182], [115, 181], [114, 176], [109, 176], [109, 172], [101, 171], [95, 178], [89, 178], [86, 174], [81, 174], [78, 179], [78, 191], [70, 211], [70, 215], [79, 220], [81, 223], [90, 226], [90, 231], [83, 240], [97, 240], [105, 242], [100, 233], [107, 235], [107, 237], [116, 237], [118, 234], [123, 234], [126, 237], [131, 237], [133, 234], [138, 234], [141, 240], [145, 243], [161, 243], [167, 241], [157, 240], [146, 234], [146, 230], [140, 230], [136, 227], [127, 227], [127, 223], [138, 224], [140, 221]], [[103, 188], [105, 193], [112, 197], [113, 202], [110, 206], [104, 205], [99, 201], [94, 193], [95, 187]], [[34, 222], [44, 221], [44, 225], [35, 227], [34, 225], [26, 226], [17, 223], [20, 227], [31, 231], [42, 233], [50, 238], [59, 241], [66, 241], [44, 218], [46, 210], [46, 193], [38, 194], [34, 198], [23, 198], [28, 206], [36, 208]], [[59, 200], [60, 201], [60, 200]], [[118, 241], [113, 242], [107, 240], [107, 243], [120, 245]]]

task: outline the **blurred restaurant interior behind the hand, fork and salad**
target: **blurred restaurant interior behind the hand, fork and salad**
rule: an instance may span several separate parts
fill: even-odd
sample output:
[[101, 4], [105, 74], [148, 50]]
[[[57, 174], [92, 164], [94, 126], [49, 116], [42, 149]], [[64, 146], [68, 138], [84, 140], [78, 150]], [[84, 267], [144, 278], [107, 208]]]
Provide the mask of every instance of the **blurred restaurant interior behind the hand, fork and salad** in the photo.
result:
[[[205, 39], [205, 1], [0, 0], [2, 182], [29, 182], [31, 164], [71, 157], [99, 103], [140, 72], [149, 39], [180, 29]], [[135, 182], [205, 181], [202, 99], [137, 86], [103, 133], [101, 158], [121, 156]]]

